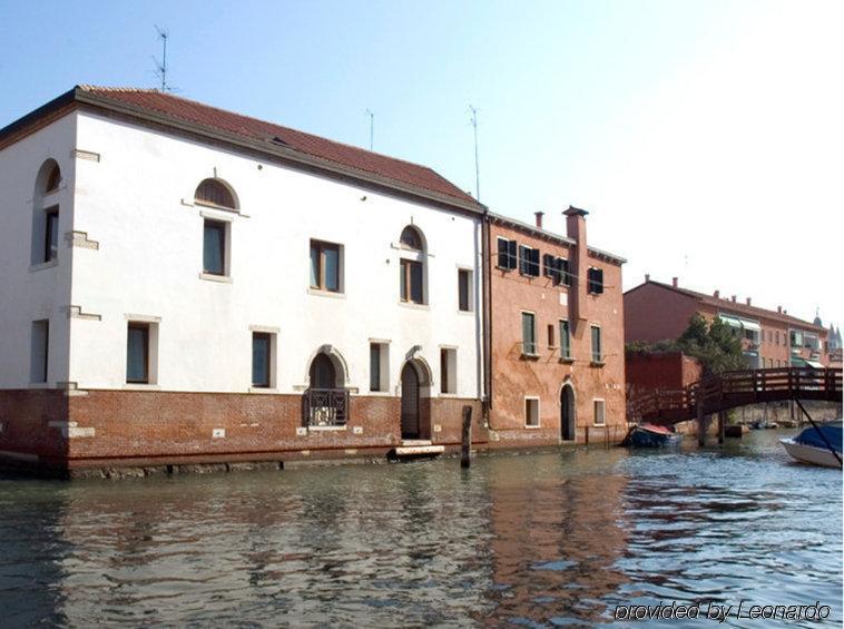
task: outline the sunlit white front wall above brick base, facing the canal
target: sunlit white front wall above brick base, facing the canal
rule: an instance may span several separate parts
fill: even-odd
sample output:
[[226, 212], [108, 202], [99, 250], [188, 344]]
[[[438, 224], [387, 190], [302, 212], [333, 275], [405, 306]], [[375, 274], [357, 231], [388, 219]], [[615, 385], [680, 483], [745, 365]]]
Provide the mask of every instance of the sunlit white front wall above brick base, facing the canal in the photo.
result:
[[[278, 328], [277, 390], [307, 384], [311, 357], [333, 345], [349, 385], [369, 393], [370, 338], [390, 341], [390, 391], [405, 354], [420, 355], [439, 392], [440, 345], [458, 347], [458, 392], [479, 395], [480, 313], [458, 312], [458, 267], [474, 269], [480, 305], [480, 222], [261, 159], [79, 115], [75, 229], [98, 250], [75, 249], [72, 301], [101, 321], [72, 320], [70, 380], [121, 389], [127, 314], [160, 317], [158, 379], [165, 391], [245, 392], [251, 325]], [[199, 278], [203, 208], [196, 186], [215, 176], [237, 194], [232, 283]], [[362, 197], [366, 197], [362, 200]], [[429, 245], [429, 306], [399, 302], [402, 228]], [[308, 292], [310, 239], [344, 246], [344, 295]], [[475, 311], [479, 308], [477, 307]]]

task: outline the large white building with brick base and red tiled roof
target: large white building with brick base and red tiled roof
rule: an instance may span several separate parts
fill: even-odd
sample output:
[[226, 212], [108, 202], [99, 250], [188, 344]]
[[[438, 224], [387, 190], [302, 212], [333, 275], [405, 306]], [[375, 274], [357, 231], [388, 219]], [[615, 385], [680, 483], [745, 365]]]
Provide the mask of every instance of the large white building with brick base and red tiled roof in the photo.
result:
[[360, 454], [479, 409], [484, 208], [428, 168], [77, 87], [0, 130], [0, 189], [9, 456]]

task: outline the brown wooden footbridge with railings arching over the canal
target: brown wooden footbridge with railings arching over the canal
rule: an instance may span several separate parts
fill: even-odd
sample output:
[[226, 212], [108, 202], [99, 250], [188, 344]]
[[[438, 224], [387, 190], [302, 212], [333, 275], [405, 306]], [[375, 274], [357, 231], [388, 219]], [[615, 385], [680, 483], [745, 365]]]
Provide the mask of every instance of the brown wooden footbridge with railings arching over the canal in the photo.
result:
[[785, 400], [841, 403], [841, 368], [784, 367], [713, 375], [679, 390], [657, 390], [628, 407], [630, 421], [670, 425], [730, 409]]

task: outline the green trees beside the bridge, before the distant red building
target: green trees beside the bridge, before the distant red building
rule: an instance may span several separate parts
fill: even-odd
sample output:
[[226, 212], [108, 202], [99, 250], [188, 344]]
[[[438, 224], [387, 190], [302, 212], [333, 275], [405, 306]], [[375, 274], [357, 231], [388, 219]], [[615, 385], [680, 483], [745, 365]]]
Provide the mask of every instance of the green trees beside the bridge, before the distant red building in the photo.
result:
[[676, 341], [628, 343], [626, 351], [640, 354], [681, 352], [700, 361], [705, 373], [718, 374], [747, 368], [742, 340], [733, 328], [719, 318], [707, 323], [698, 313], [691, 315], [688, 327]]

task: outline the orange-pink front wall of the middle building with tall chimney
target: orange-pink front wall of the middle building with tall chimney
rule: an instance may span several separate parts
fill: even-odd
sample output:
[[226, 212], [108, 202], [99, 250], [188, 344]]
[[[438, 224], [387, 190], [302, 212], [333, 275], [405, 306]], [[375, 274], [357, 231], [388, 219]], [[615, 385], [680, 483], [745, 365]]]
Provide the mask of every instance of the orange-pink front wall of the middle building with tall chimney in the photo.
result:
[[[497, 264], [499, 238], [539, 249], [569, 261], [571, 285], [555, 284], [544, 275], [528, 276]], [[624, 327], [621, 301], [621, 262], [589, 249], [586, 245], [583, 215], [568, 217], [568, 237], [560, 237], [540, 227], [533, 228], [503, 217], [490, 226], [492, 255], [490, 273], [491, 323], [491, 446], [552, 444], [563, 434], [563, 386], [573, 389], [576, 407], [575, 440], [617, 442], [626, 431], [624, 391]], [[587, 289], [586, 268], [603, 272], [603, 293]], [[528, 355], [522, 347], [522, 312], [534, 315], [536, 352]], [[571, 358], [560, 353], [560, 320], [571, 326]], [[548, 326], [552, 326], [549, 344]], [[591, 361], [591, 325], [600, 325], [603, 360]], [[538, 426], [526, 425], [526, 397], [539, 399]], [[593, 421], [593, 401], [606, 404], [606, 425]]]

